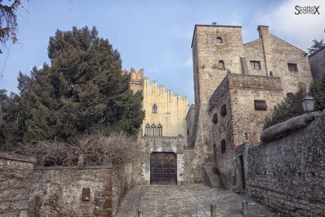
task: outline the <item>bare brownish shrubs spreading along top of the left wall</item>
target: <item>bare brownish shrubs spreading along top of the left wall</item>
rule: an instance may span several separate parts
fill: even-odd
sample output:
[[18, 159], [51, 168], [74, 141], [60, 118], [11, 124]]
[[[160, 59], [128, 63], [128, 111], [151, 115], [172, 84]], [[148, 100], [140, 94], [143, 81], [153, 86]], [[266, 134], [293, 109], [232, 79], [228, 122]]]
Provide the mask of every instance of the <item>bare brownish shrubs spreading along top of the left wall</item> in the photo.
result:
[[141, 148], [134, 137], [124, 133], [87, 135], [74, 143], [59, 140], [42, 140], [35, 143], [19, 143], [9, 150], [22, 155], [33, 156], [38, 166], [76, 166], [79, 156], [84, 165], [103, 165], [110, 158], [114, 163], [131, 162], [139, 156]]

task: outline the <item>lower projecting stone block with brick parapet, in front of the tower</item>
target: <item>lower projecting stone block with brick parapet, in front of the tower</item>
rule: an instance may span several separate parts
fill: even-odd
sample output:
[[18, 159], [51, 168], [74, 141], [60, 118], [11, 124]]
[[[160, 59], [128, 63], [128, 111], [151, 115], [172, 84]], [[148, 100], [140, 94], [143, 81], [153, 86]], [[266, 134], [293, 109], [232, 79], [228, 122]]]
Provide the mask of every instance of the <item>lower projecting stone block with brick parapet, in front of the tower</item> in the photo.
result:
[[[215, 90], [210, 99], [210, 133], [215, 163], [227, 189], [243, 190], [241, 173], [235, 168], [239, 165], [237, 155], [244, 152], [236, 153], [236, 148], [258, 142], [264, 118], [282, 99], [278, 77], [230, 73]], [[265, 100], [267, 109], [256, 110], [254, 100]]]

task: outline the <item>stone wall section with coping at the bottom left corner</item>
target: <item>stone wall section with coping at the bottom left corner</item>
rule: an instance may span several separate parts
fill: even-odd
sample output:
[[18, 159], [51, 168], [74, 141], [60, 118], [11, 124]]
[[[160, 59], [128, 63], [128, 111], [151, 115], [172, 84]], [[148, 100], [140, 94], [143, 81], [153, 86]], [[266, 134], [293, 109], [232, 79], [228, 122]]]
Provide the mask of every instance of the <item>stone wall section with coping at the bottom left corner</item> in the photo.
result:
[[0, 152], [0, 216], [28, 216], [35, 159]]

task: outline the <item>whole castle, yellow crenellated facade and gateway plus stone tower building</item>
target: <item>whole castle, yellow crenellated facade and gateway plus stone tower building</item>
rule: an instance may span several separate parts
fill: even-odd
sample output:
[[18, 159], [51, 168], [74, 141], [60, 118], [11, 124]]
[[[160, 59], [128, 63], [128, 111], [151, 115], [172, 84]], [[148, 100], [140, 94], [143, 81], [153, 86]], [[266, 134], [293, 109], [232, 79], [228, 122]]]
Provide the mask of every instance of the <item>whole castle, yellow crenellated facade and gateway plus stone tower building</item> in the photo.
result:
[[243, 43], [241, 26], [195, 25], [190, 108], [187, 97], [131, 69], [130, 85], [142, 90], [146, 113], [137, 183], [200, 182], [203, 166], [215, 165], [224, 186], [245, 188], [246, 162], [238, 148], [258, 142], [273, 106], [312, 82], [306, 52], [270, 34], [268, 26], [257, 30], [258, 39]]

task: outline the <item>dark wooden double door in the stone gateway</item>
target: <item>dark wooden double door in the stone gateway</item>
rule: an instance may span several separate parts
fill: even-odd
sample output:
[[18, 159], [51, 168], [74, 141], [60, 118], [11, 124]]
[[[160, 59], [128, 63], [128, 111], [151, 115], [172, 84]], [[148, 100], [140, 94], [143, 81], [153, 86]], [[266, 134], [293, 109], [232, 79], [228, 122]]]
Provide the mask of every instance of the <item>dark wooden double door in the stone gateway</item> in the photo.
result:
[[177, 184], [175, 153], [153, 152], [150, 155], [150, 184]]

